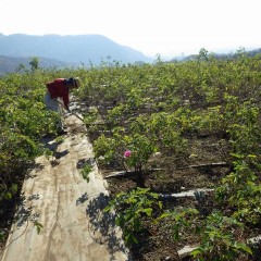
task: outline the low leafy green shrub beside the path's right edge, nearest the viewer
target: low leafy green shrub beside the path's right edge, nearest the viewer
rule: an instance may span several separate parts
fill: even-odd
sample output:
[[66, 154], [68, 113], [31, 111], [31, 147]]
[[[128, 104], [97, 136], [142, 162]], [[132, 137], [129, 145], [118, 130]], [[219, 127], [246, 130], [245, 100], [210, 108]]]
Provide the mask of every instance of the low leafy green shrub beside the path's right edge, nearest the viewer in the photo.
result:
[[144, 219], [153, 219], [153, 211], [162, 208], [158, 195], [149, 189], [137, 188], [129, 194], [121, 192], [112, 199], [104, 211], [115, 211], [115, 222], [123, 229], [123, 237], [127, 246], [138, 244], [136, 234], [142, 227]]

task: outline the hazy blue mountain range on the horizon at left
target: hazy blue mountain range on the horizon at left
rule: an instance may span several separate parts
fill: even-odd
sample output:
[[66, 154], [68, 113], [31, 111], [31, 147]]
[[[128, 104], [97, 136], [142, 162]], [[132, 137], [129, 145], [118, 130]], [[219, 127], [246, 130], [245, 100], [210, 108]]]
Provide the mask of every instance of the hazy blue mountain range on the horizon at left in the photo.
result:
[[[24, 35], [5, 36], [0, 34], [0, 72], [1, 67], [11, 69], [16, 62], [28, 63], [33, 57], [39, 58], [45, 65], [101, 64], [102, 61], [121, 63], [152, 62], [152, 58], [140, 51], [121, 46], [101, 35]], [[12, 59], [8, 59], [12, 58]], [[42, 58], [42, 59], [40, 59]], [[4, 65], [4, 63], [8, 63]], [[9, 71], [9, 70], [8, 70]]]

